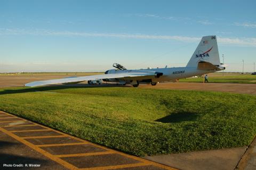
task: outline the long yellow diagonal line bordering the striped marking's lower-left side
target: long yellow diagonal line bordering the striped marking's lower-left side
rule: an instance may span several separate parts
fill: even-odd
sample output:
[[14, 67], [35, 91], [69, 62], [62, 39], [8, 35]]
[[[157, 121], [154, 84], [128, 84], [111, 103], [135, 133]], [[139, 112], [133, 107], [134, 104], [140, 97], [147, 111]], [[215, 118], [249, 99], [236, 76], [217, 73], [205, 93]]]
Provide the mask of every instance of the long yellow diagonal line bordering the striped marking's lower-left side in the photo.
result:
[[26, 140], [24, 140], [24, 139], [21, 139], [19, 136], [14, 135], [13, 133], [10, 133], [9, 131], [6, 131], [4, 128], [1, 128], [1, 127], [0, 127], [0, 131], [2, 131], [3, 133], [5, 133], [5, 134], [7, 134], [7, 135], [9, 135], [9, 136], [11, 136], [11, 137], [13, 137], [15, 140], [18, 140], [19, 142], [21, 142], [21, 143], [23, 143], [23, 144], [26, 144], [26, 145], [27, 145], [28, 147], [30, 147], [31, 149], [34, 149], [34, 150], [36, 150], [37, 152], [42, 153], [44, 156], [46, 156], [46, 157], [48, 157], [48, 158], [54, 160], [55, 162], [61, 164], [62, 166], [65, 166], [66, 168], [69, 168], [69, 169], [78, 169], [76, 166], [71, 165], [71, 164], [67, 163], [67, 162], [64, 161], [64, 160], [62, 160], [62, 159], [60, 159], [60, 158], [58, 158], [58, 157], [53, 156], [51, 153], [46, 152], [45, 150], [43, 150], [43, 149], [37, 147], [36, 145], [31, 144], [31, 143], [29, 143], [28, 141], [26, 141]]

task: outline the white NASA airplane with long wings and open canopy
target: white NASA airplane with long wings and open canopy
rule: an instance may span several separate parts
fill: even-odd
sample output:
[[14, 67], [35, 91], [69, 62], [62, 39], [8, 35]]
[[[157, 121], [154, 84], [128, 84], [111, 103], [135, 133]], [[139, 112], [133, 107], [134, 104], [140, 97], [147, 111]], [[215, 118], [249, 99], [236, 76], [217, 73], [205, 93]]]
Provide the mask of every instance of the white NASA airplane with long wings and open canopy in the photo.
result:
[[107, 70], [103, 75], [43, 80], [31, 82], [25, 84], [25, 86], [76, 84], [102, 79], [107, 82], [118, 82], [123, 85], [131, 84], [133, 87], [138, 87], [142, 82], [151, 83], [151, 85], [166, 81], [177, 82], [180, 78], [198, 76], [225, 69], [225, 65], [220, 63], [216, 36], [205, 36], [201, 39], [186, 67], [127, 70], [117, 63], [113, 64], [113, 66], [117, 69]]

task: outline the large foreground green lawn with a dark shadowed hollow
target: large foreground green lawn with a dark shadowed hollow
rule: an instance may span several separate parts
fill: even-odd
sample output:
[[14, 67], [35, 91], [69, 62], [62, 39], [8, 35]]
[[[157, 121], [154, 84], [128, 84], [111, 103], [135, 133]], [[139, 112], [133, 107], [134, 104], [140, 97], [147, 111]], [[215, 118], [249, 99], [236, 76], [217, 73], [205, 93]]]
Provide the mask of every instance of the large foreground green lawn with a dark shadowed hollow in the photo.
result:
[[1, 88], [0, 110], [133, 155], [241, 147], [256, 96], [131, 87]]

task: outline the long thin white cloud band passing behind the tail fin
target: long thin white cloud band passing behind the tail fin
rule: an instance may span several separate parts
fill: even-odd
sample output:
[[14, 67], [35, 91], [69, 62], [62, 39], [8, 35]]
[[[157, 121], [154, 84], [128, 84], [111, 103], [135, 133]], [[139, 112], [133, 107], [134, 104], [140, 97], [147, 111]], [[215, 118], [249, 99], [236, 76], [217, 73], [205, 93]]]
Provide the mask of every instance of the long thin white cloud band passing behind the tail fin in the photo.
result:
[[[0, 35], [38, 35], [38, 36], [79, 36], [79, 37], [106, 37], [106, 38], [134, 38], [134, 39], [162, 39], [181, 42], [198, 42], [201, 37], [146, 35], [146, 34], [119, 34], [119, 33], [85, 33], [73, 31], [53, 31], [44, 29], [3, 29]], [[253, 46], [256, 47], [256, 38], [228, 38], [218, 37], [218, 42], [226, 45]]]

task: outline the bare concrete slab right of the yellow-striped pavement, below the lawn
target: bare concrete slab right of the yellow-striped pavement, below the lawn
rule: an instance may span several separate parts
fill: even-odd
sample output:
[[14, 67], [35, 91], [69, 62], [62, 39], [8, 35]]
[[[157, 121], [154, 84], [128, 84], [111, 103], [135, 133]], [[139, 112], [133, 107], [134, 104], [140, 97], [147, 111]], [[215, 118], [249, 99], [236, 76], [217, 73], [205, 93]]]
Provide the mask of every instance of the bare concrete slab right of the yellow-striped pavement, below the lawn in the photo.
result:
[[235, 169], [246, 147], [149, 156], [146, 159], [183, 170]]

